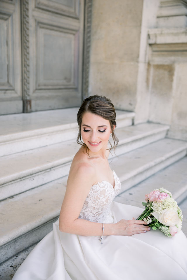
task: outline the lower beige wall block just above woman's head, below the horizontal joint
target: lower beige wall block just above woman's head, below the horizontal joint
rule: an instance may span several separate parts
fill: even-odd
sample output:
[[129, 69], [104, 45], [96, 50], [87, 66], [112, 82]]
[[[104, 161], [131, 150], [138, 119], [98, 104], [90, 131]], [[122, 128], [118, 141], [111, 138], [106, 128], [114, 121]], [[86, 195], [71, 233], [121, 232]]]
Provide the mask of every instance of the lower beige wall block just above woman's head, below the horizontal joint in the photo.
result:
[[137, 63], [92, 63], [91, 94], [107, 96], [117, 109], [134, 111], [137, 71]]

